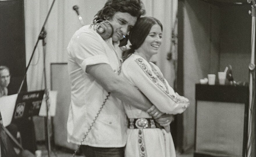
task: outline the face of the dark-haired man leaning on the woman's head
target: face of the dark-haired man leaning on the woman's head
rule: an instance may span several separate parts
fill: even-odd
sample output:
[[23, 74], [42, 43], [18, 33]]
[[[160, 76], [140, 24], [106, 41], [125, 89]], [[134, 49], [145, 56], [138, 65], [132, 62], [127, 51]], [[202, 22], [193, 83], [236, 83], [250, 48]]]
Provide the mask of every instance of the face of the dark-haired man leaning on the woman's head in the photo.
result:
[[111, 19], [106, 19], [113, 27], [112, 40], [117, 42], [123, 39], [123, 35], [127, 35], [131, 28], [135, 25], [137, 17], [131, 16], [127, 12], [116, 12]]

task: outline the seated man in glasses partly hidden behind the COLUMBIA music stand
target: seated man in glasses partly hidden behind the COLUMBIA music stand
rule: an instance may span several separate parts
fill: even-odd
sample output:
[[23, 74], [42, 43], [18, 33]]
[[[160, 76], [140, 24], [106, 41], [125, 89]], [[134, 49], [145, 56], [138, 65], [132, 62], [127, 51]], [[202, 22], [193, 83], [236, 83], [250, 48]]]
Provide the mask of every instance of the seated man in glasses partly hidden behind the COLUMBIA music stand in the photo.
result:
[[[10, 70], [6, 66], [0, 66], [0, 97], [8, 95], [8, 85], [10, 83]], [[1, 115], [1, 114], [0, 114]], [[12, 157], [29, 157], [33, 156], [33, 154], [29, 151], [35, 152], [35, 131], [34, 126], [31, 128], [33, 124], [31, 124], [29, 119], [20, 122], [19, 124], [11, 123], [6, 127], [7, 130], [3, 130], [2, 123], [0, 123], [0, 146], [1, 146], [1, 154], [0, 156], [12, 156]], [[30, 129], [31, 128], [31, 129]], [[21, 138], [23, 139], [22, 144], [24, 149], [28, 149], [29, 151], [20, 151], [19, 147], [15, 144], [13, 140], [11, 140], [10, 136], [6, 133], [10, 132], [10, 134], [17, 139], [18, 131], [21, 133]], [[32, 141], [32, 142], [31, 142]], [[34, 142], [33, 142], [34, 141]], [[32, 146], [31, 146], [32, 145]]]

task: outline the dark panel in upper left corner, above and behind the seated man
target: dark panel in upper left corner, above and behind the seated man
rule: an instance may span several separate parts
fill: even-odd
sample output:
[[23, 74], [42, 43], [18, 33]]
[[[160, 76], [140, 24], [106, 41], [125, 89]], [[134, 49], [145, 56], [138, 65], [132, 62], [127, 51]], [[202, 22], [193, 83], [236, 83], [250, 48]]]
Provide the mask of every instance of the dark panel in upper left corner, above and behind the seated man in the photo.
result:
[[17, 93], [26, 69], [23, 0], [0, 1], [0, 29], [0, 64], [10, 68], [10, 95]]

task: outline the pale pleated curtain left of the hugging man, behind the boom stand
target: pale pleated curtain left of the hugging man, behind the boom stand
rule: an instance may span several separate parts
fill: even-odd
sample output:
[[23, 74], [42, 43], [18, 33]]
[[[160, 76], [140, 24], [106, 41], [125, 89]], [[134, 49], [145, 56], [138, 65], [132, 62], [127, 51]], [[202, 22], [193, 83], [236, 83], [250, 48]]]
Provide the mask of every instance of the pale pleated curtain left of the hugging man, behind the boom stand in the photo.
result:
[[[52, 2], [53, 0], [24, 0], [27, 65]], [[56, 0], [54, 2], [47, 24], [45, 25], [47, 32], [45, 38], [47, 89], [51, 89], [50, 64], [67, 63], [67, 44], [74, 32], [81, 27], [77, 14], [72, 9], [73, 6], [79, 6], [81, 16], [85, 23], [89, 24], [97, 10], [102, 8], [104, 3], [105, 0]], [[27, 86], [29, 91], [45, 89], [42, 41], [39, 41], [31, 65], [29, 66], [27, 72]], [[45, 140], [44, 118], [35, 116], [33, 120], [35, 123], [36, 140]], [[50, 129], [49, 136], [51, 136], [51, 134]]]

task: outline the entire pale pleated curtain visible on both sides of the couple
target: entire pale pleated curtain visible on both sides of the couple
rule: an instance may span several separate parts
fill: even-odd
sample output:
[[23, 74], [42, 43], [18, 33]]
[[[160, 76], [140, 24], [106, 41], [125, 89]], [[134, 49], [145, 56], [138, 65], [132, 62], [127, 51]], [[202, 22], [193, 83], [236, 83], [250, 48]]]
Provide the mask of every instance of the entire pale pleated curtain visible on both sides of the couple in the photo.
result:
[[[27, 65], [52, 2], [53, 0], [24, 0]], [[67, 62], [66, 48], [68, 42], [74, 32], [81, 27], [77, 14], [72, 9], [73, 6], [79, 6], [79, 12], [84, 23], [90, 24], [94, 15], [104, 6], [105, 2], [106, 0], [55, 1], [45, 26], [47, 32], [45, 38], [47, 89], [51, 89], [50, 64]], [[161, 51], [154, 56], [152, 60], [157, 62], [157, 65], [160, 67], [166, 79], [170, 85], [173, 86], [175, 79], [175, 60], [168, 61], [166, 58], [168, 52], [171, 51], [171, 32], [174, 28], [178, 2], [177, 0], [143, 0], [143, 2], [145, 4], [146, 16], [156, 17], [163, 24], [163, 43]], [[177, 59], [177, 48], [175, 46], [172, 47], [172, 52], [173, 58]], [[27, 85], [29, 91], [45, 89], [42, 40], [38, 43], [28, 69]], [[41, 121], [41, 123], [43, 123], [43, 121]], [[37, 137], [39, 136], [40, 135], [37, 135]]]

